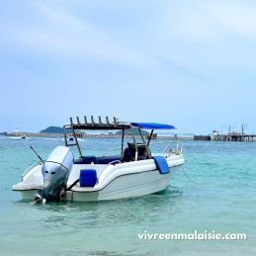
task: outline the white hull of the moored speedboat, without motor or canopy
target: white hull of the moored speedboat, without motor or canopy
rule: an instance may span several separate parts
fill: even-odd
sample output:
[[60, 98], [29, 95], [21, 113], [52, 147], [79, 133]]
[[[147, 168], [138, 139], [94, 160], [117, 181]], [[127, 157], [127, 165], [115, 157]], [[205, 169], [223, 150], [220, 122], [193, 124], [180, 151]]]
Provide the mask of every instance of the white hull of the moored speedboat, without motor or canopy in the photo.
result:
[[[172, 154], [166, 158], [170, 172], [161, 174], [153, 159], [104, 164], [73, 164], [67, 181], [69, 187], [79, 179], [80, 170], [95, 169], [98, 181], [94, 187], [80, 187], [79, 182], [66, 192], [70, 202], [107, 201], [140, 197], [166, 189], [175, 172], [183, 165], [182, 155]], [[42, 165], [33, 167], [23, 181], [13, 186], [23, 200], [34, 200], [38, 189], [43, 187]]]

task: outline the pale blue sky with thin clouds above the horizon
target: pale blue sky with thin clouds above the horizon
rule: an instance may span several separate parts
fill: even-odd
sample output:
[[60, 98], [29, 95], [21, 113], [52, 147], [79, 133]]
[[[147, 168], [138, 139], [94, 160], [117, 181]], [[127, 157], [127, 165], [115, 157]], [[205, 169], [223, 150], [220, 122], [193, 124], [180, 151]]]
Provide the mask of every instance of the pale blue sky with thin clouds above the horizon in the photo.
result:
[[0, 5], [0, 131], [101, 115], [256, 133], [255, 1]]

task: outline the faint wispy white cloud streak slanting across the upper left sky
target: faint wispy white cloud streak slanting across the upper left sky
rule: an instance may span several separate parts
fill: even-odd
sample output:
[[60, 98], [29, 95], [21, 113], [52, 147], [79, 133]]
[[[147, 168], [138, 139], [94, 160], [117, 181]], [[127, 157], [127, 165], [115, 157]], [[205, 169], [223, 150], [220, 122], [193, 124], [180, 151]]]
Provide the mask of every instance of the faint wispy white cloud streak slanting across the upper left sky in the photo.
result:
[[117, 35], [85, 19], [78, 19], [59, 7], [39, 2], [33, 2], [33, 7], [40, 14], [38, 21], [30, 25], [6, 26], [8, 34], [18, 43], [71, 57], [89, 57], [136, 67], [159, 65], [150, 55], [132, 46], [134, 44], [126, 43]]

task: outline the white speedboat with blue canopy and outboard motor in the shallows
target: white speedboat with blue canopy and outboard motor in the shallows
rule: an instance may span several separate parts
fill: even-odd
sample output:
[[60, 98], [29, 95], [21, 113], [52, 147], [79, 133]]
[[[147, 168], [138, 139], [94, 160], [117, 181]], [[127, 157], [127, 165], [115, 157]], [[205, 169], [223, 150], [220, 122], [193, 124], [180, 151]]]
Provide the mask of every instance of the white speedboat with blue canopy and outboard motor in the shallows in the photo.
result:
[[[56, 146], [43, 160], [30, 167], [22, 175], [22, 181], [12, 187], [24, 200], [36, 202], [107, 201], [140, 197], [165, 190], [175, 172], [184, 164], [182, 144], [154, 154], [150, 140], [154, 129], [173, 129], [173, 126], [156, 123], [113, 122], [96, 123], [94, 118], [83, 123], [70, 118], [63, 126], [65, 145]], [[66, 130], [72, 130], [74, 141], [68, 140]], [[146, 139], [142, 129], [151, 129]], [[122, 130], [118, 155], [88, 155], [82, 153], [77, 135], [81, 130]], [[100, 139], [98, 136], [97, 139]], [[108, 138], [109, 139], [109, 138]], [[92, 141], [93, 139], [89, 140]], [[99, 140], [97, 140], [99, 141]], [[79, 157], [74, 157], [75, 146]], [[34, 150], [34, 149], [33, 149]]]

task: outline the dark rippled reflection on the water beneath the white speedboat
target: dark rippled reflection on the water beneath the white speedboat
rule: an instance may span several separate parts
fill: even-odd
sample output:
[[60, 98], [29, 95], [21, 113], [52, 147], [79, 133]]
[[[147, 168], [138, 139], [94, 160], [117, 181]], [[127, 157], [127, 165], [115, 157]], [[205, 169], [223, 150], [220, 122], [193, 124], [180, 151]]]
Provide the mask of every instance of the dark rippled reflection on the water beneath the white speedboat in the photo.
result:
[[165, 191], [143, 196], [106, 202], [46, 203], [34, 205], [20, 202], [32, 211], [42, 223], [41, 228], [69, 226], [70, 228], [103, 228], [130, 224], [148, 224], [168, 219], [182, 201], [183, 193], [168, 187]]

